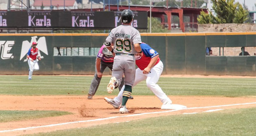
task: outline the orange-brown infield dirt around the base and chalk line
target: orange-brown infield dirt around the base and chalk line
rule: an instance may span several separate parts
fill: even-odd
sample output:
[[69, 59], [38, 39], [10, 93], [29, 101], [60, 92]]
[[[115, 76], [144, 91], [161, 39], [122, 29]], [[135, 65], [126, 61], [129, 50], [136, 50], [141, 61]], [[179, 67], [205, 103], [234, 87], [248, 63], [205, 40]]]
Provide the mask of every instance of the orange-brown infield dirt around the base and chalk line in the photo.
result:
[[[26, 127], [37, 127], [50, 124], [59, 124], [66, 122], [76, 122], [83, 120], [94, 120], [107, 117], [116, 117], [123, 115], [133, 115], [139, 113], [153, 113], [161, 110], [161, 101], [156, 96], [134, 96], [133, 100], [128, 100], [127, 108], [134, 109], [134, 113], [120, 114], [119, 109], [113, 108], [106, 101], [106, 96], [94, 96], [88, 100], [87, 96], [0, 96], [0, 110], [58, 110], [68, 111], [72, 115], [64, 115], [59, 117], [44, 117], [35, 120], [25, 120], [17, 122], [0, 123], [0, 131], [12, 130]], [[107, 96], [114, 98], [114, 96]], [[253, 103], [256, 97], [212, 97], [212, 96], [169, 96], [173, 104], [181, 104], [191, 107], [219, 106], [237, 103]], [[255, 104], [225, 106], [221, 109], [229, 108], [249, 108], [256, 107]], [[73, 124], [63, 124], [52, 127], [41, 127], [35, 129], [16, 130], [0, 133], [1, 136], [14, 136], [21, 134], [34, 134], [39, 132], [50, 132], [61, 129], [72, 129], [81, 127], [90, 127], [99, 124], [108, 124], [115, 122], [126, 122], [130, 120], [138, 120], [148, 117], [159, 117], [165, 115], [179, 115], [183, 113], [200, 113], [206, 110], [219, 108], [197, 108], [185, 109], [168, 113], [154, 113], [147, 115], [137, 115], [132, 117], [117, 117], [114, 119], [97, 120], [91, 122], [77, 122]], [[216, 111], [218, 112], [218, 111]]]

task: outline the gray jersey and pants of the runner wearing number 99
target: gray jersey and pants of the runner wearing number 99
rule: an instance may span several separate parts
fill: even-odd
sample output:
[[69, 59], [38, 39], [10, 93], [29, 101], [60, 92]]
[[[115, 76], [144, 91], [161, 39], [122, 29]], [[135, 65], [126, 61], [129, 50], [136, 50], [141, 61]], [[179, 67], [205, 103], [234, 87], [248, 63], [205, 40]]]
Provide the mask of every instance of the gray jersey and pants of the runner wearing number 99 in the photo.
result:
[[133, 44], [141, 43], [140, 32], [130, 25], [120, 25], [111, 30], [106, 41], [114, 44], [115, 53], [121, 53], [114, 57], [112, 77], [120, 83], [124, 74], [124, 84], [133, 86], [135, 56], [128, 54], [137, 54]]

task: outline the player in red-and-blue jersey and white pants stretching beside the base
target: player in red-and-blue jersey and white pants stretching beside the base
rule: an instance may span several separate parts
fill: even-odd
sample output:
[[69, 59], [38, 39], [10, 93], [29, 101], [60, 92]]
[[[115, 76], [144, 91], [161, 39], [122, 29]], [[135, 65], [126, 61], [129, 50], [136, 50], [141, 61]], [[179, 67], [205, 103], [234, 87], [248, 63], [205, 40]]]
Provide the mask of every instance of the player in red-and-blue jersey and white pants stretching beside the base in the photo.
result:
[[[147, 87], [159, 98], [159, 100], [163, 103], [161, 109], [172, 109], [172, 101], [164, 91], [156, 84], [159, 80], [159, 77], [163, 71], [163, 63], [159, 58], [158, 52], [149, 47], [146, 43], [142, 43], [142, 56], [135, 56], [136, 65], [138, 68], [135, 72], [135, 81], [133, 87], [136, 86], [139, 82], [146, 80]], [[124, 87], [121, 89], [123, 91]], [[122, 92], [119, 92], [118, 96], [114, 99], [110, 99], [105, 97], [105, 101], [107, 103], [114, 106], [114, 108], [119, 108], [122, 101]]]

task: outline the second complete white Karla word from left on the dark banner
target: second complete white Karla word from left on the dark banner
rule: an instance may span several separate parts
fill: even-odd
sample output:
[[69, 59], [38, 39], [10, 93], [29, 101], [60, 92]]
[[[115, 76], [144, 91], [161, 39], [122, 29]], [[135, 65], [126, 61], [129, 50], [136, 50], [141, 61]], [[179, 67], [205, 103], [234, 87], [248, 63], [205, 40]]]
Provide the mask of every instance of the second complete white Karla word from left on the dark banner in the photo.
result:
[[[87, 16], [87, 19], [79, 19], [79, 16], [72, 16], [72, 27], [94, 27], [94, 20]], [[79, 21], [79, 25], [77, 23]]]

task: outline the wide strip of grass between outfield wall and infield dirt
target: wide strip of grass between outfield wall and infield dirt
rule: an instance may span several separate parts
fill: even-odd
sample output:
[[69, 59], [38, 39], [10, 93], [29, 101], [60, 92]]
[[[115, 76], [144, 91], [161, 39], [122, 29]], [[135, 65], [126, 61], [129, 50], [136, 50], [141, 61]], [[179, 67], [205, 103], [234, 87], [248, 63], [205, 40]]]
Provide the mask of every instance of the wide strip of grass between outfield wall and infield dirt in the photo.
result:
[[[87, 95], [93, 77], [0, 75], [0, 95]], [[111, 77], [102, 77], [95, 95], [110, 95], [106, 88]], [[161, 77], [159, 86], [167, 95], [179, 96], [256, 96], [256, 78], [178, 78]], [[117, 95], [115, 89], [111, 95]], [[154, 95], [143, 81], [133, 95]]]

